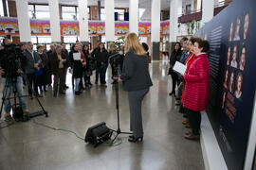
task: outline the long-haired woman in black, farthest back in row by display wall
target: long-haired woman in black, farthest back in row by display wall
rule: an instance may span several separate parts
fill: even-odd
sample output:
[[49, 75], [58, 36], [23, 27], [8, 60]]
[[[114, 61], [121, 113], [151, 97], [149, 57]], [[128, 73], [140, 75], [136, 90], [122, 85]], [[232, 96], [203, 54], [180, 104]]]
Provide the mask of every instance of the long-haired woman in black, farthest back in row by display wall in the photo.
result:
[[[181, 55], [180, 43], [175, 42], [174, 50], [173, 50], [171, 58], [170, 58], [170, 69], [174, 68], [174, 64], [179, 59], [180, 55]], [[179, 85], [180, 79], [174, 71], [170, 72], [170, 74], [171, 74], [172, 79], [173, 79], [173, 91], [171, 93], [169, 93], [169, 95], [175, 95], [175, 88], [176, 88], [176, 85], [177, 86]]]

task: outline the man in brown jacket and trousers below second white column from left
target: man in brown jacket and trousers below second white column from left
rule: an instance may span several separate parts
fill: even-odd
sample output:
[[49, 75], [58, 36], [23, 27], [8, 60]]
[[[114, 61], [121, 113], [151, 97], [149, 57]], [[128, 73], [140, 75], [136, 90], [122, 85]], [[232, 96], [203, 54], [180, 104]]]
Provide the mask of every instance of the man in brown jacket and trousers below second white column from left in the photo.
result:
[[59, 93], [64, 94], [64, 76], [65, 76], [65, 63], [66, 56], [64, 52], [62, 52], [62, 46], [57, 45], [56, 50], [50, 55], [50, 63], [52, 74], [54, 76], [54, 84], [53, 84], [53, 96], [57, 96], [58, 86]]

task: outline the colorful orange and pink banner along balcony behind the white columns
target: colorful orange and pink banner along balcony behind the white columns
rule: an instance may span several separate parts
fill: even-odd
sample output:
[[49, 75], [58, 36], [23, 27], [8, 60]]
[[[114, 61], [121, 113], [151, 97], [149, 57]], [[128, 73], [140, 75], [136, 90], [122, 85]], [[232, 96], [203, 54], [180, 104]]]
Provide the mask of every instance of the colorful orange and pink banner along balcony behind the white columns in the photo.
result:
[[[61, 35], [79, 35], [78, 21], [61, 21]], [[30, 20], [31, 35], [50, 35], [50, 23], [46, 20]], [[89, 35], [104, 35], [105, 23], [99, 21], [88, 22]], [[115, 34], [125, 35], [129, 33], [129, 22], [116, 22]], [[147, 36], [151, 34], [151, 23], [142, 22], [138, 24], [138, 34]], [[161, 23], [161, 35], [169, 34], [169, 21]], [[16, 18], [0, 17], [0, 35], [19, 35], [18, 21]]]

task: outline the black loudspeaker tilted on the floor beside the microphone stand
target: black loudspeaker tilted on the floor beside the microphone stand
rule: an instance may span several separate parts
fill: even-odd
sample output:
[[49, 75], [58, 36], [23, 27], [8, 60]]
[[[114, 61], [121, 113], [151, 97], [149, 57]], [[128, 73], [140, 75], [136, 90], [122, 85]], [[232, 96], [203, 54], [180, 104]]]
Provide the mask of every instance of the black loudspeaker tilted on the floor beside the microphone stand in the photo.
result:
[[94, 144], [97, 147], [99, 144], [109, 140], [112, 136], [112, 130], [106, 126], [106, 123], [101, 122], [87, 129], [84, 142]]

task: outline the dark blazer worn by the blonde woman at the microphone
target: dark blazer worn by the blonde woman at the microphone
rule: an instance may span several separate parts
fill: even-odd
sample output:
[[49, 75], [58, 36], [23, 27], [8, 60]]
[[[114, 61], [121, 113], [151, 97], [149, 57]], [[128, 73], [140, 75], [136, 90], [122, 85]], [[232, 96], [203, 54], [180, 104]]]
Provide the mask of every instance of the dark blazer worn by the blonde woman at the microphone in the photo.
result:
[[120, 78], [124, 91], [139, 91], [153, 85], [148, 70], [147, 56], [137, 56], [134, 52], [126, 53]]

